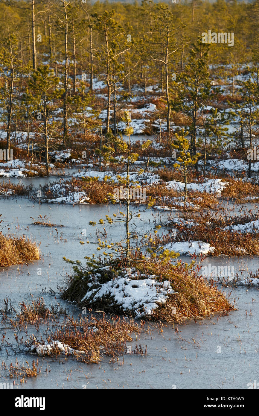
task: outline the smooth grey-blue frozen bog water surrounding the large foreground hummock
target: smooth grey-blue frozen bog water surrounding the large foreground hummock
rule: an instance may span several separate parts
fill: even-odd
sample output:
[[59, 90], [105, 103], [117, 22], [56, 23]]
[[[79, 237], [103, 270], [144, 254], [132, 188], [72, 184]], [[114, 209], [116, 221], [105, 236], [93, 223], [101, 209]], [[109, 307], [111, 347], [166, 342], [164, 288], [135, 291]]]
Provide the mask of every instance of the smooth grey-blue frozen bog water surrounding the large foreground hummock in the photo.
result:
[[[44, 179], [44, 178], [43, 178]], [[37, 180], [37, 179], [36, 179]], [[26, 180], [27, 181], [27, 180]], [[35, 183], [35, 179], [33, 179]], [[138, 209], [138, 208], [133, 208]], [[84, 256], [96, 252], [96, 244], [81, 245], [83, 230], [89, 241], [96, 241], [95, 228], [88, 225], [89, 220], [104, 218], [108, 213], [117, 212], [118, 206], [94, 205], [57, 205], [34, 204], [27, 198], [2, 198], [0, 213], [2, 226], [7, 225], [6, 232], [32, 236], [40, 242], [42, 258], [30, 265], [19, 265], [0, 269], [1, 299], [9, 297], [15, 307], [21, 300], [28, 297], [43, 296], [47, 304], [56, 305], [54, 296], [45, 292], [45, 287], [51, 287], [57, 293], [57, 285], [62, 285], [66, 273], [71, 273], [71, 267], [62, 257], [81, 260]], [[138, 231], [149, 230], [153, 225], [152, 211], [142, 215], [135, 226]], [[43, 227], [32, 225], [34, 217], [46, 215], [54, 224], [64, 227]], [[160, 213], [167, 216], [167, 213]], [[102, 230], [100, 228], [100, 230]], [[102, 230], [103, 231], [103, 230]], [[163, 230], [162, 230], [163, 231]], [[120, 225], [106, 226], [107, 239], [118, 240], [124, 234]], [[101, 237], [101, 235], [100, 235]], [[190, 257], [181, 256], [187, 262]], [[247, 275], [248, 270], [256, 272], [259, 268], [259, 258], [206, 258], [203, 265], [229, 265], [234, 271]], [[40, 274], [41, 273], [41, 274]], [[42, 374], [37, 378], [27, 379], [27, 383], [19, 389], [84, 389], [84, 388], [125, 388], [125, 389], [246, 389], [252, 380], [259, 379], [259, 292], [256, 288], [224, 289], [232, 290], [231, 299], [236, 302], [237, 311], [232, 311], [228, 317], [217, 316], [203, 321], [190, 322], [179, 326], [179, 334], [175, 333], [172, 325], [164, 325], [161, 333], [159, 326], [150, 324], [150, 332], [141, 335], [138, 343], [147, 344], [147, 356], [125, 354], [118, 361], [109, 363], [104, 357], [101, 364], [81, 364], [72, 357], [67, 360], [39, 358]], [[58, 299], [59, 301], [59, 299]], [[75, 315], [81, 313], [74, 304], [60, 302], [68, 307]], [[0, 350], [1, 362], [7, 365], [28, 360], [30, 363], [35, 356], [17, 349], [13, 331], [1, 324], [1, 334], [5, 334], [5, 343]], [[147, 328], [147, 327], [146, 327]], [[35, 333], [35, 327], [28, 327], [27, 336]], [[18, 333], [20, 339], [23, 333]], [[39, 335], [39, 334], [37, 334]], [[9, 343], [9, 345], [7, 344]], [[13, 349], [12, 350], [12, 347]], [[7, 352], [6, 352], [7, 349]], [[134, 349], [134, 343], [132, 345]], [[46, 371], [46, 369], [48, 371]], [[49, 370], [51, 370], [49, 372]], [[1, 370], [1, 381], [4, 371]], [[6, 381], [9, 381], [7, 378]]]

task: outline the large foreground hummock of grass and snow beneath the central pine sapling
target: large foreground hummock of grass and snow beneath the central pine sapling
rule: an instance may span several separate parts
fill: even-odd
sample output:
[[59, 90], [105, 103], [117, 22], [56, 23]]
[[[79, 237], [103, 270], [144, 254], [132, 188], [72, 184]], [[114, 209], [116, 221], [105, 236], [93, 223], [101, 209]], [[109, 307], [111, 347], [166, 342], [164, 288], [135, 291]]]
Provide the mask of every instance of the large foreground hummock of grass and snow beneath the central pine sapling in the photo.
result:
[[[145, 312], [145, 307], [141, 307], [141, 305], [138, 307], [138, 311], [134, 310], [134, 307], [126, 310], [108, 291], [102, 291], [102, 296], [96, 297], [96, 291], [100, 287], [105, 288], [107, 282], [111, 280], [114, 281], [116, 289], [116, 282], [128, 270], [134, 270], [134, 281], [142, 280], [144, 277], [154, 279], [155, 282], [160, 283], [162, 288], [163, 284], [165, 287], [170, 285], [174, 292], [169, 294], [165, 292], [165, 301], [155, 301], [156, 307], [147, 312]], [[88, 262], [86, 268], [83, 268], [77, 263], [74, 266], [74, 272], [74, 276], [70, 276], [67, 281], [67, 287], [63, 289], [62, 297], [66, 300], [76, 301], [79, 305], [89, 307], [93, 311], [104, 310], [109, 313], [125, 313], [126, 315], [135, 313], [135, 316], [143, 316], [145, 319], [162, 319], [167, 322], [183, 323], [188, 319], [205, 318], [215, 313], [227, 313], [234, 308], [223, 292], [213, 283], [209, 284], [198, 275], [198, 266], [195, 266], [194, 262], [191, 265], [182, 262], [172, 263], [166, 257], [148, 258], [147, 260], [145, 256], [136, 253], [132, 254], [127, 261], [124, 258], [110, 260], [109, 266], [107, 262], [106, 266], [103, 266], [100, 262], [92, 261]], [[132, 297], [134, 298], [134, 293]]]

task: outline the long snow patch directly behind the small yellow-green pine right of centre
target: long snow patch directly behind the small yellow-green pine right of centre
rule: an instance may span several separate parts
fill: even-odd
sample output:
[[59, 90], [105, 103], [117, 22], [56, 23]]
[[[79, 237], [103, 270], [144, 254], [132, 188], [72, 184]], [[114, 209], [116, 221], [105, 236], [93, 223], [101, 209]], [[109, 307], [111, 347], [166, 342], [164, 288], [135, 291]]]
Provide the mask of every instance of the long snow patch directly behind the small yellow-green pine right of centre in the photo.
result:
[[[187, 183], [187, 189], [190, 191], [217, 193], [220, 196], [226, 185], [228, 185], [228, 182], [223, 182], [221, 179], [209, 179], [203, 183]], [[175, 191], [184, 191], [184, 183], [180, 181], [170, 181], [166, 187], [168, 189], [175, 189]]]

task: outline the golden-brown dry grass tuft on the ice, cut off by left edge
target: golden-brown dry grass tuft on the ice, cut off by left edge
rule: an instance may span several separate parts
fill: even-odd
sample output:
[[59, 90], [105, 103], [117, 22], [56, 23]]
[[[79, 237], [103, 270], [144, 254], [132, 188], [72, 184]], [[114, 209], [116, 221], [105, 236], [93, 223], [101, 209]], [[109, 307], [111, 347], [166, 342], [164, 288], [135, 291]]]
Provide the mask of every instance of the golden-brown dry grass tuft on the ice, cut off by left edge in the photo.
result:
[[30, 238], [0, 233], [0, 266], [7, 267], [15, 264], [39, 260], [40, 253], [36, 243]]

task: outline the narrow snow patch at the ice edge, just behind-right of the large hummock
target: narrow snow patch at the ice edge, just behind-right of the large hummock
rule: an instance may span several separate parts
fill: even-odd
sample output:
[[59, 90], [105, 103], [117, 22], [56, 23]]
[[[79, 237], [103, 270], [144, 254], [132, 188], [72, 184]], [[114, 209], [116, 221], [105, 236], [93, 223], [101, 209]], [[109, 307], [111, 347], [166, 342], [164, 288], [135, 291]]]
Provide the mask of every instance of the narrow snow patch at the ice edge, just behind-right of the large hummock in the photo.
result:
[[174, 251], [180, 255], [211, 254], [214, 252], [215, 247], [202, 241], [182, 241], [179, 243], [168, 243], [163, 246], [163, 250]]

